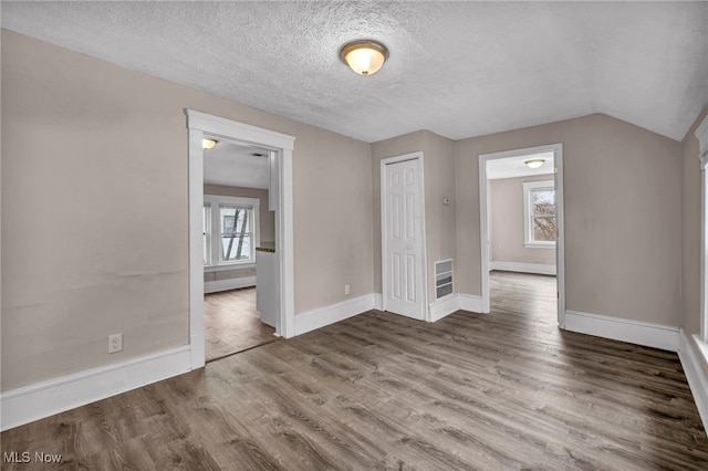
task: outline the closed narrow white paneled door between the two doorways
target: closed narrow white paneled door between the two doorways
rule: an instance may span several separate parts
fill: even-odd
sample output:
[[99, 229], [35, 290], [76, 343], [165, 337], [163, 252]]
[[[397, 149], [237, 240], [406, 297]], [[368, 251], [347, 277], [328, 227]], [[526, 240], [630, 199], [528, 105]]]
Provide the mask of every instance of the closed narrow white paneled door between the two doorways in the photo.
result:
[[426, 320], [423, 154], [382, 160], [383, 307]]

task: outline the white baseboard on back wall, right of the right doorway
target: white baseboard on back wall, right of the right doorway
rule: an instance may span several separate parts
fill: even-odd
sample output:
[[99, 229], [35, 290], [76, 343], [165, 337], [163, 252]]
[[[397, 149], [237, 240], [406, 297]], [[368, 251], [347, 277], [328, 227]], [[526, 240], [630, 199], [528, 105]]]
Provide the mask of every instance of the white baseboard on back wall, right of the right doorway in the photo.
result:
[[566, 311], [565, 329], [669, 352], [679, 347], [678, 327], [621, 317]]

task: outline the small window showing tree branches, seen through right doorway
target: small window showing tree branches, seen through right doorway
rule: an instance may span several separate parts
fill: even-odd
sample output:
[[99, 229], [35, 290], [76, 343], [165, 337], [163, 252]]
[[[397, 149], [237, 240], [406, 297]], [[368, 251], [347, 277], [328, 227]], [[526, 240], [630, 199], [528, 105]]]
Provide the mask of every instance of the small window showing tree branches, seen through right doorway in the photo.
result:
[[555, 248], [555, 186], [553, 180], [523, 185], [523, 245]]

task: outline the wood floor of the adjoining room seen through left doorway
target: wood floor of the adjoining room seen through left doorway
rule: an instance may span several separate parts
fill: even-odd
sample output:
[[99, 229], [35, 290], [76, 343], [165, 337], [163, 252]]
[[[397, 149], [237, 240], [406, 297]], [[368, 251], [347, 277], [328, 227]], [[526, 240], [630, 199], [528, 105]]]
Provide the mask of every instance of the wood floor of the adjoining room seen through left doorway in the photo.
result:
[[275, 341], [275, 329], [261, 323], [256, 287], [204, 295], [205, 357], [207, 362]]

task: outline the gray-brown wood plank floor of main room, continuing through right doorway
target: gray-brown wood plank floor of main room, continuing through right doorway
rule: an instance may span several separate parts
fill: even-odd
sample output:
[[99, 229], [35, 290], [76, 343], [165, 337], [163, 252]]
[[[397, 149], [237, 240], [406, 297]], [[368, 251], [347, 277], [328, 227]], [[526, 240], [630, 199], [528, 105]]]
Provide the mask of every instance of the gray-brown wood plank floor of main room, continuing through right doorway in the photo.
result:
[[[492, 273], [492, 314], [372, 311], [6, 431], [2, 451], [85, 470], [708, 469], [677, 356], [559, 331], [554, 283]], [[3, 470], [33, 467], [50, 468]]]

